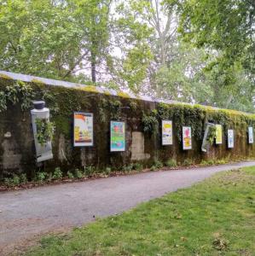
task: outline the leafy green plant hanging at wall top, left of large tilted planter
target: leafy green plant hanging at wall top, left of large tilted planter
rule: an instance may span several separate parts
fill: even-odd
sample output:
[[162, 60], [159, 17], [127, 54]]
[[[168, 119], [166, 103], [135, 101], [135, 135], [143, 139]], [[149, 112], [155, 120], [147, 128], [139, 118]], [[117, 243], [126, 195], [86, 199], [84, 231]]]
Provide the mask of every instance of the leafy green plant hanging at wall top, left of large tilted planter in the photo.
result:
[[7, 110], [8, 103], [15, 105], [18, 102], [20, 102], [22, 111], [25, 111], [32, 107], [33, 97], [34, 91], [30, 84], [16, 81], [0, 91], [0, 112]]

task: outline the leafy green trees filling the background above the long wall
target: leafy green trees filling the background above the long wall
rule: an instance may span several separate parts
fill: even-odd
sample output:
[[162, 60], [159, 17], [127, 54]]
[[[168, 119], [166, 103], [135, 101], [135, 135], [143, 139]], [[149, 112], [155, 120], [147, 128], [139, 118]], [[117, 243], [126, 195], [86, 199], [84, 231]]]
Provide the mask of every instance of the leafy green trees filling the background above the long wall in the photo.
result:
[[254, 111], [250, 0], [1, 0], [0, 69]]

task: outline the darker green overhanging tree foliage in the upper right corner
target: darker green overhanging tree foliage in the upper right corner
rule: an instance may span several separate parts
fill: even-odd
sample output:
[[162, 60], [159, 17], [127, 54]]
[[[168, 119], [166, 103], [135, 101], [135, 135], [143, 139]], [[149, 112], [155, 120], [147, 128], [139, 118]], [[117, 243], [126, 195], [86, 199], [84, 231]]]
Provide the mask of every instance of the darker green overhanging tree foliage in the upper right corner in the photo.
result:
[[254, 1], [184, 0], [179, 6], [182, 14], [179, 31], [187, 41], [219, 50], [219, 61], [225, 66], [241, 61], [254, 79]]

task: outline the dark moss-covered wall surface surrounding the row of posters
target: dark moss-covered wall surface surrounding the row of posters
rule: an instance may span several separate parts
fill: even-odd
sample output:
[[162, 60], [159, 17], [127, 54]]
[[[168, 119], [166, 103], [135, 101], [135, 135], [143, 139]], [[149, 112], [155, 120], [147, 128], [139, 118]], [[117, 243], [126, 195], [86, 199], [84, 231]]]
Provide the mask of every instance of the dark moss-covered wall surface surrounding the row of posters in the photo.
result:
[[[16, 81], [2, 76], [0, 92], [4, 94], [7, 86], [14, 86], [15, 83]], [[140, 99], [130, 99], [125, 93], [119, 93], [118, 96], [101, 94], [94, 87], [86, 87], [86, 90], [83, 87], [80, 90], [67, 89], [43, 84], [37, 80], [33, 80], [30, 85], [27, 88], [32, 87], [33, 99], [43, 99], [46, 106], [50, 108], [51, 120], [55, 122], [56, 127], [53, 142], [55, 158], [45, 163], [46, 168], [61, 166], [63, 170], [69, 170], [84, 165], [93, 165], [99, 169], [106, 166], [119, 169], [130, 164], [130, 146], [134, 131], [146, 131], [144, 153], [149, 154], [150, 158], [142, 160], [144, 165], [153, 162], [155, 158], [162, 161], [174, 158], [180, 163], [188, 159], [198, 163], [208, 158], [237, 160], [255, 157], [255, 144], [247, 143], [247, 127], [255, 127], [255, 114], [182, 103], [145, 102]], [[0, 177], [9, 172], [32, 172], [36, 167], [30, 112], [29, 109], [21, 108], [22, 96], [19, 94], [18, 97], [17, 102], [10, 102], [7, 99], [7, 110], [3, 109], [0, 113]], [[94, 147], [72, 147], [72, 114], [74, 111], [94, 113]], [[145, 122], [146, 118], [150, 122]], [[123, 120], [127, 124], [127, 150], [124, 153], [111, 153], [109, 150], [109, 125], [113, 119]], [[161, 145], [161, 119], [173, 121], [172, 146]], [[154, 121], [151, 122], [151, 120]], [[222, 145], [213, 145], [210, 151], [204, 154], [200, 148], [208, 121], [223, 125], [224, 138]], [[186, 125], [192, 127], [193, 149], [183, 151], [182, 129]], [[235, 130], [234, 149], [227, 148], [227, 130], [230, 128]], [[7, 152], [7, 148], [4, 148], [7, 140], [4, 134], [7, 131], [13, 134], [8, 138], [9, 142], [16, 145], [12, 149], [13, 152], [9, 154], [13, 157], [15, 154], [20, 155], [19, 170], [7, 168], [7, 160], [3, 160], [3, 154]]]

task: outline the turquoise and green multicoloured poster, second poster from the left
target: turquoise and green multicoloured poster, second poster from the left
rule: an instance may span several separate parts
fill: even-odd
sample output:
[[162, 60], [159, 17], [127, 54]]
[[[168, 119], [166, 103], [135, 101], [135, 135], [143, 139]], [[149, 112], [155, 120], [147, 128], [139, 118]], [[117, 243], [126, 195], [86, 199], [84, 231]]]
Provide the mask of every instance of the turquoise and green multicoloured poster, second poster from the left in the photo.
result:
[[125, 151], [125, 122], [111, 121], [111, 152]]

